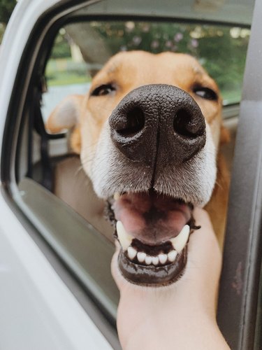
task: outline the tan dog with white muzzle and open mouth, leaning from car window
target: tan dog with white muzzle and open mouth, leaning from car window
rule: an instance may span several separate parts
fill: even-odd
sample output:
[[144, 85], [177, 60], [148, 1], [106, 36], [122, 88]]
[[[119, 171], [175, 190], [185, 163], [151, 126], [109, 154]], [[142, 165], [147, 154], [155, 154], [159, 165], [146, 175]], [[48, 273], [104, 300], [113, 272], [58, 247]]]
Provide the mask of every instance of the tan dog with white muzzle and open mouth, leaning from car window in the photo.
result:
[[194, 57], [130, 51], [48, 118], [49, 132], [73, 129], [71, 147], [108, 202], [119, 269], [131, 283], [163, 286], [181, 276], [197, 229], [194, 206], [208, 211], [223, 246], [229, 175], [221, 108], [217, 84]]

